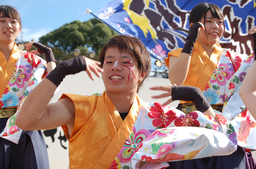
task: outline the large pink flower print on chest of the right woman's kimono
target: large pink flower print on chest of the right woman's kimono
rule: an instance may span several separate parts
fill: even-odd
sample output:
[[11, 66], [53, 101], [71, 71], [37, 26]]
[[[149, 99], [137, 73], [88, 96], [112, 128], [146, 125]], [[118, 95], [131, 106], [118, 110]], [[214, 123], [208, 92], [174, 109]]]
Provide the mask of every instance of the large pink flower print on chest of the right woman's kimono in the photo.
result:
[[215, 67], [215, 70], [209, 80], [210, 83], [215, 83], [219, 86], [225, 86], [227, 80], [232, 76], [232, 73], [228, 71], [229, 66], [226, 63], [221, 63], [219, 66]]

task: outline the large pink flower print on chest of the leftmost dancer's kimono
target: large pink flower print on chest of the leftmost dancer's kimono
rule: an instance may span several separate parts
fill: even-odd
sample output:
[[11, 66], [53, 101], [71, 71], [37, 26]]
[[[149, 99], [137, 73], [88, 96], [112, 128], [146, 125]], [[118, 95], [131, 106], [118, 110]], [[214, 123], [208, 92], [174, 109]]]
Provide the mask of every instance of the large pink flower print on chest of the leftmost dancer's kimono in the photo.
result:
[[28, 82], [30, 78], [26, 71], [26, 66], [20, 65], [19, 68], [15, 66], [14, 72], [12, 73], [11, 79], [9, 81], [9, 86], [11, 87], [16, 84], [18, 88], [23, 88], [25, 86], [25, 82]]

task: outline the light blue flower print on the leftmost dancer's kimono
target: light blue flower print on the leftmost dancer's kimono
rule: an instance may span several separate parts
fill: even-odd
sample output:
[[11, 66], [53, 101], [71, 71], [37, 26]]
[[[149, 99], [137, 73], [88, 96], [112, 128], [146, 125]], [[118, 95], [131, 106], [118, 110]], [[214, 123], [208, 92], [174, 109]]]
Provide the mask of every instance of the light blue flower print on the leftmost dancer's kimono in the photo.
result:
[[7, 94], [3, 94], [0, 100], [4, 103], [3, 107], [17, 106], [20, 102], [19, 96], [16, 96], [16, 94], [11, 91]]

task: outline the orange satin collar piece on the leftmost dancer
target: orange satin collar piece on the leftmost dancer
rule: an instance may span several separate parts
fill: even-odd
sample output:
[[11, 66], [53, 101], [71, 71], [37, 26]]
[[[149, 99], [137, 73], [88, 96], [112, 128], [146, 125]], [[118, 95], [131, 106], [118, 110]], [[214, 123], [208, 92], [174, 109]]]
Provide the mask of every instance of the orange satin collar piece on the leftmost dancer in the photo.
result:
[[7, 62], [4, 54], [0, 51], [0, 95], [3, 95], [4, 90], [12, 76], [16, 62], [19, 58], [19, 49], [14, 43], [14, 48], [12, 49], [11, 56]]

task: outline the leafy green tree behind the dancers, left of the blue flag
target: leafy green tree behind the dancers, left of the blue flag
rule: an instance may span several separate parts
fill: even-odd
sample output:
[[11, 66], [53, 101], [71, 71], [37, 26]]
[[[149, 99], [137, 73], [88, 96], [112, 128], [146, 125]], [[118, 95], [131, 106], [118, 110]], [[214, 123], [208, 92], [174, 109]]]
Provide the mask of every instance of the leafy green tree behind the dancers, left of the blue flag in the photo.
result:
[[74, 57], [72, 51], [75, 48], [79, 48], [84, 56], [87, 56], [88, 48], [91, 48], [99, 56], [105, 42], [116, 35], [115, 31], [97, 19], [83, 23], [76, 20], [42, 36], [39, 42], [51, 47], [56, 59], [64, 60]]

